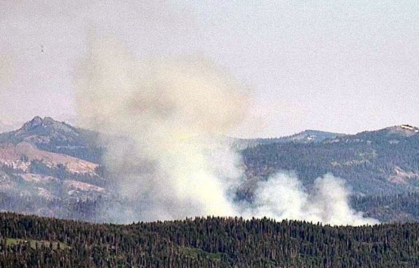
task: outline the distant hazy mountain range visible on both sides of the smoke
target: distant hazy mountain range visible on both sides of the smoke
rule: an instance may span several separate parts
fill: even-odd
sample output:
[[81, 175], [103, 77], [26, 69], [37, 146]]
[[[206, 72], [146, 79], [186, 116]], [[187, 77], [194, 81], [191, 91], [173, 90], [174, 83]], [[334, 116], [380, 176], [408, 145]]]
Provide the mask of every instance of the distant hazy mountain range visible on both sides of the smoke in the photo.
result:
[[[0, 210], [98, 220], [94, 211], [112, 193], [101, 165], [105, 149], [97, 141], [98, 133], [50, 117], [0, 134]], [[356, 135], [307, 130], [272, 139], [226, 138], [223, 144], [243, 156], [247, 183], [237, 198], [251, 200], [256, 182], [276, 172], [295, 172], [308, 189], [332, 173], [345, 179], [353, 205], [369, 216], [419, 220], [419, 128]]]

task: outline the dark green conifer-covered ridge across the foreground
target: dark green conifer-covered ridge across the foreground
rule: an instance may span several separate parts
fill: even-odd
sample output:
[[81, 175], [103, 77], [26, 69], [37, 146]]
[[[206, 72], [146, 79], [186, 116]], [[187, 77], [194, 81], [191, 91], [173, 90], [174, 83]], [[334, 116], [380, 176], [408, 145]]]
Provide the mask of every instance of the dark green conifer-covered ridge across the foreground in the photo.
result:
[[0, 267], [418, 267], [419, 223], [195, 218], [94, 225], [0, 214]]

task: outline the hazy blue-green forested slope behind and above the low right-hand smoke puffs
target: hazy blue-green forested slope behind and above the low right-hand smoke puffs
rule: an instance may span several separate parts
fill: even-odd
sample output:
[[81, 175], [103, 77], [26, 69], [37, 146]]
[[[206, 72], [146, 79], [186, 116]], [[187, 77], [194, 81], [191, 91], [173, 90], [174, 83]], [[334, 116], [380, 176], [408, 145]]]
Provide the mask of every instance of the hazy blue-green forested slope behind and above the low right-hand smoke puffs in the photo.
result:
[[[293, 171], [311, 186], [332, 173], [355, 195], [395, 195], [419, 190], [419, 134], [399, 126], [301, 144], [276, 142], [242, 151], [247, 177], [267, 179]], [[258, 180], [256, 179], [256, 180]]]

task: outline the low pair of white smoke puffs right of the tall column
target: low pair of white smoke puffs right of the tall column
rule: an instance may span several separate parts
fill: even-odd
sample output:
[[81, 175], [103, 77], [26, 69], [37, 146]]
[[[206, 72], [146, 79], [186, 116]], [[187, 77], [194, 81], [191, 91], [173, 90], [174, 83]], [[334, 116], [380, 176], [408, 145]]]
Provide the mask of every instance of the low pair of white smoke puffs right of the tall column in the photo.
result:
[[244, 208], [247, 217], [288, 218], [331, 225], [378, 223], [349, 207], [344, 181], [331, 174], [316, 179], [310, 194], [293, 174], [279, 173], [260, 181], [254, 196], [251, 207]]

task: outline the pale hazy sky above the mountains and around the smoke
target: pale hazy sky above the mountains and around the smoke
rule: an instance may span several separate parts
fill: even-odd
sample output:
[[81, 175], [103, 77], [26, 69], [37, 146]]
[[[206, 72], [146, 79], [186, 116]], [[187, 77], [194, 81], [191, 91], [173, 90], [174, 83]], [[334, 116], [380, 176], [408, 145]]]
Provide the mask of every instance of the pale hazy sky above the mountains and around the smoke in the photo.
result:
[[242, 136], [419, 125], [419, 1], [70, 2], [0, 1], [0, 121], [75, 114], [94, 33], [212, 59], [251, 91]]

